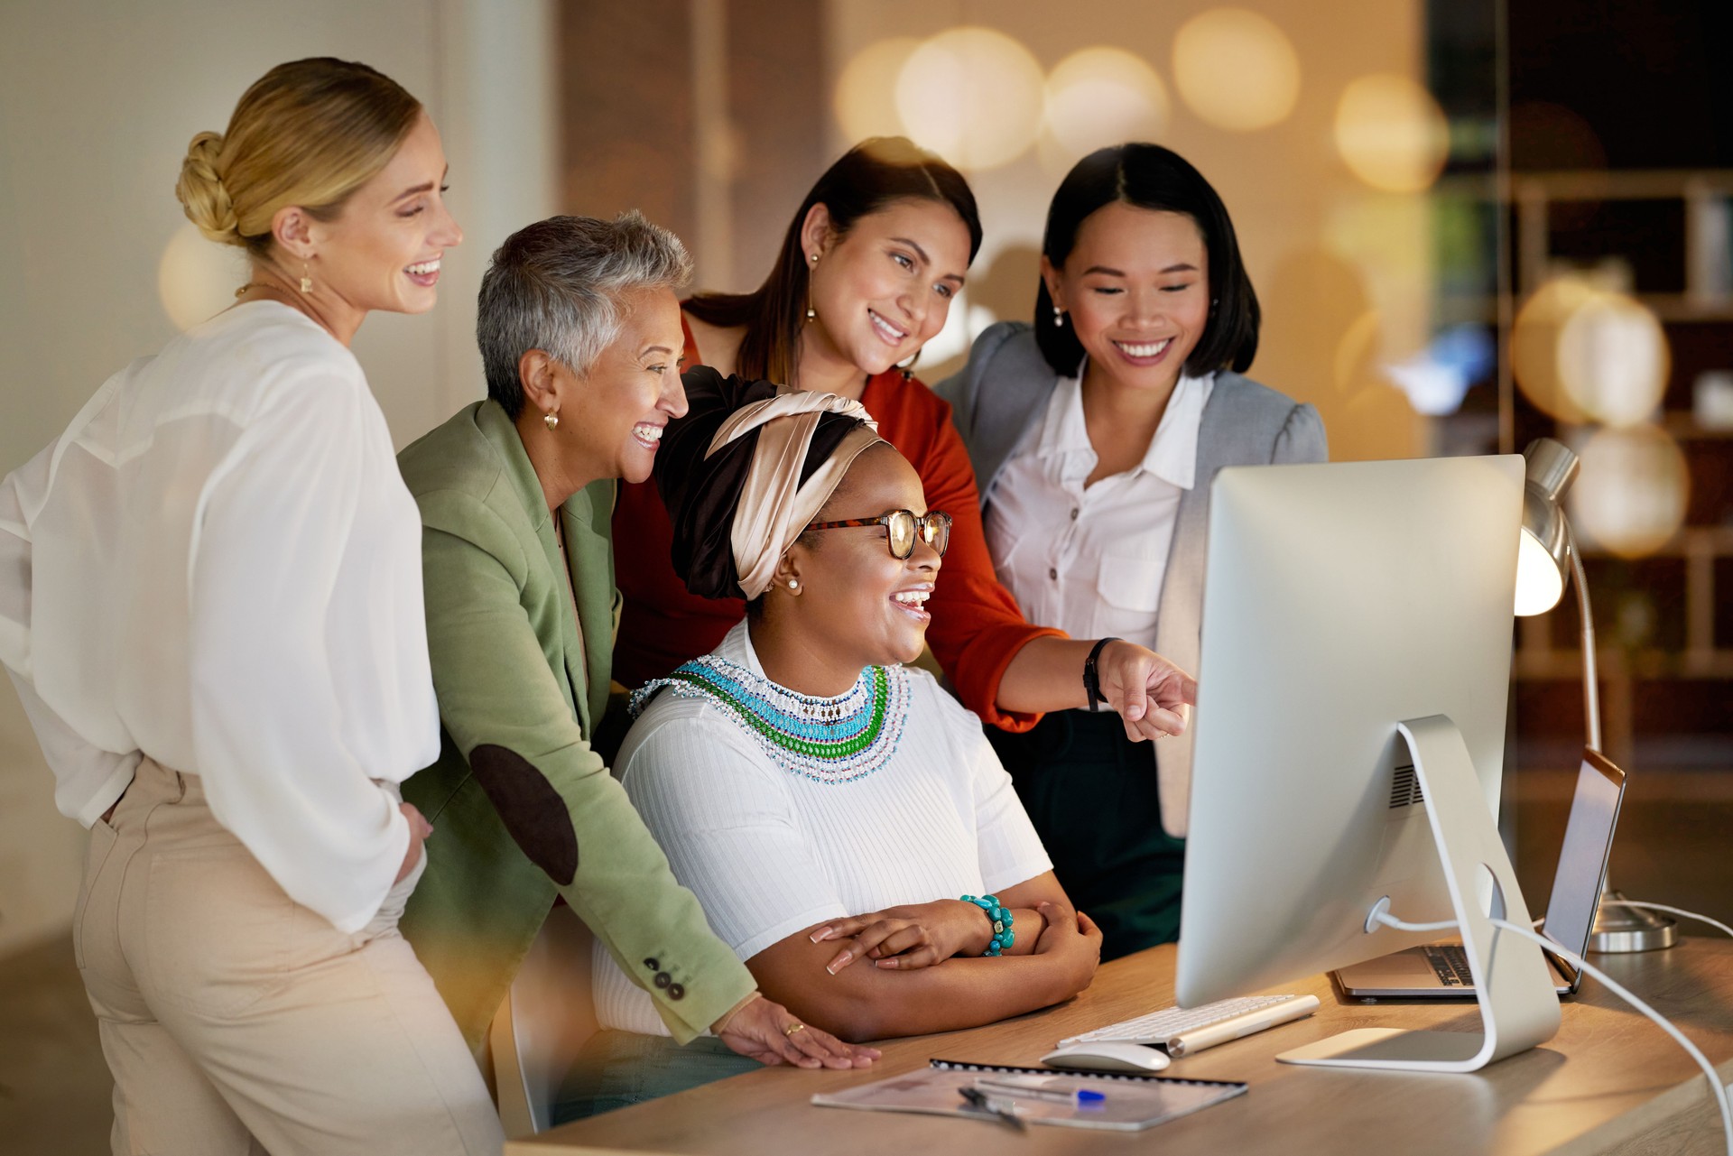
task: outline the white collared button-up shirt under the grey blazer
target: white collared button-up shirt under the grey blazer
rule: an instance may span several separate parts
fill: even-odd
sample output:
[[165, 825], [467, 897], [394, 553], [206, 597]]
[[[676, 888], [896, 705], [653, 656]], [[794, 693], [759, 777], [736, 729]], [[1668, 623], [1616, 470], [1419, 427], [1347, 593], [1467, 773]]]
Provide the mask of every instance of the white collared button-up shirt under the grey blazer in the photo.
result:
[[1180, 374], [1144, 459], [1085, 487], [1099, 456], [1083, 423], [1081, 371], [1059, 380], [986, 494], [993, 568], [1029, 622], [1154, 648], [1168, 548], [1180, 496], [1196, 482], [1213, 388], [1213, 373]]

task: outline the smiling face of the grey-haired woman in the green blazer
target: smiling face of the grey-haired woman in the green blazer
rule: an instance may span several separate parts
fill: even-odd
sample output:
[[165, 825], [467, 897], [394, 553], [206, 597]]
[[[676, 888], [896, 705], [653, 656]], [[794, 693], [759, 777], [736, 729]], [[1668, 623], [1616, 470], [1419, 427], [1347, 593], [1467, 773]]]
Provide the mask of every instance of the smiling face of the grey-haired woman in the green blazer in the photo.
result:
[[679, 298], [669, 288], [620, 295], [624, 324], [586, 376], [560, 367], [558, 433], [572, 438], [586, 477], [643, 482], [655, 464], [662, 430], [686, 412], [679, 383], [685, 338]]

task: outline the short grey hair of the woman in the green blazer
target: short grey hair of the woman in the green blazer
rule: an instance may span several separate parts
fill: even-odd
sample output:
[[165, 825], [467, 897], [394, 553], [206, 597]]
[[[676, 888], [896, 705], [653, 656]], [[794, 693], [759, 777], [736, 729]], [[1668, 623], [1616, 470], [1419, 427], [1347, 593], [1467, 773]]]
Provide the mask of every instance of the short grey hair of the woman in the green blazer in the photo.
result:
[[579, 376], [587, 374], [620, 336], [620, 296], [636, 289], [679, 291], [690, 279], [686, 246], [638, 210], [613, 220], [549, 217], [518, 229], [482, 276], [475, 340], [487, 395], [516, 418], [523, 409], [523, 354], [539, 348]]

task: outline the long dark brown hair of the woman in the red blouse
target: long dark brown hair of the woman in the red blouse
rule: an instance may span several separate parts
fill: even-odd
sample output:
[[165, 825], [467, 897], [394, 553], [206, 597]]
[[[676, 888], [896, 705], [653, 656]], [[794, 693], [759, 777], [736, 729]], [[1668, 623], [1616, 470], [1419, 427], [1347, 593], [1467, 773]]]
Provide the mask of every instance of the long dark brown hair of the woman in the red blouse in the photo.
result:
[[700, 293], [686, 312], [719, 329], [745, 326], [735, 373], [766, 381], [794, 381], [806, 328], [809, 277], [801, 227], [815, 205], [830, 210], [830, 227], [846, 234], [861, 217], [892, 201], [939, 201], [969, 227], [969, 260], [981, 248], [981, 213], [964, 175], [905, 137], [861, 140], [825, 170], [789, 222], [776, 265], [752, 293]]

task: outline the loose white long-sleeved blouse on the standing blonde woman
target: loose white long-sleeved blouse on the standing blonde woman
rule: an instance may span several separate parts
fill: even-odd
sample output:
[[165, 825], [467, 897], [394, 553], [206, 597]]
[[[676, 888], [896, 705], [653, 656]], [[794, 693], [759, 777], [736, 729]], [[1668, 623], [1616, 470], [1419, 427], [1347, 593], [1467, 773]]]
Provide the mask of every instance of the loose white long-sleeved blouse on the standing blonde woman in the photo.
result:
[[0, 662], [64, 815], [92, 825], [149, 754], [295, 901], [364, 927], [438, 709], [421, 518], [355, 357], [251, 302], [109, 378], [0, 482]]

